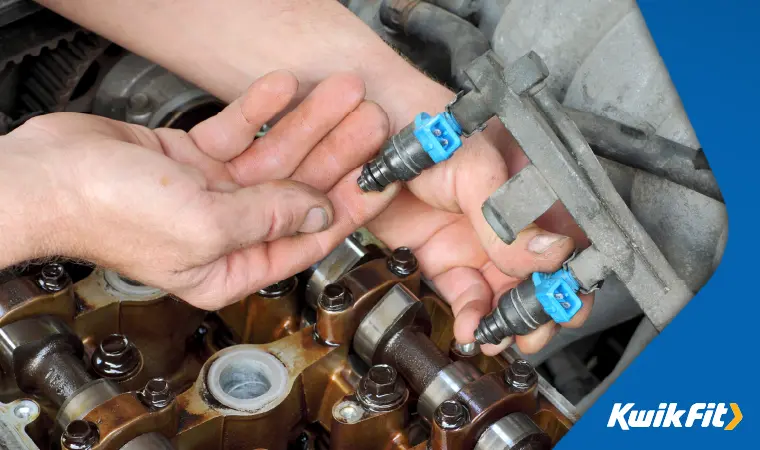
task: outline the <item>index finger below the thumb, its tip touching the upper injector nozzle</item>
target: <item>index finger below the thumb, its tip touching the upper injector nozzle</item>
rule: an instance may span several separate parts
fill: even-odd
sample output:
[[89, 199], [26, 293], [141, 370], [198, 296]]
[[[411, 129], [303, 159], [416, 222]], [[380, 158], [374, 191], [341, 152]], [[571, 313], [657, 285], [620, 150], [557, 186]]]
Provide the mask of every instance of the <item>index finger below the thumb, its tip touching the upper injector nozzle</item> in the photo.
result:
[[278, 239], [240, 249], [186, 275], [176, 294], [203, 309], [216, 309], [272, 283], [302, 272], [324, 258], [348, 235], [380, 213], [399, 187], [362, 195], [356, 185], [361, 169], [347, 174], [327, 195], [332, 225], [322, 232]]

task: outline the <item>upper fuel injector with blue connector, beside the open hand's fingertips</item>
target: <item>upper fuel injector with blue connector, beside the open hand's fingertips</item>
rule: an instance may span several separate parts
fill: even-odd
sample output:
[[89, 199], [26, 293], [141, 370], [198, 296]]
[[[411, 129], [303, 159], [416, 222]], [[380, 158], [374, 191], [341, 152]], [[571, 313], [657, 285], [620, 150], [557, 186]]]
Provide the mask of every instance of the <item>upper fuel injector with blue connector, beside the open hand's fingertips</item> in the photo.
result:
[[364, 192], [381, 192], [394, 181], [409, 181], [423, 170], [445, 161], [462, 146], [462, 127], [448, 111], [435, 116], [420, 113], [364, 165], [357, 180]]

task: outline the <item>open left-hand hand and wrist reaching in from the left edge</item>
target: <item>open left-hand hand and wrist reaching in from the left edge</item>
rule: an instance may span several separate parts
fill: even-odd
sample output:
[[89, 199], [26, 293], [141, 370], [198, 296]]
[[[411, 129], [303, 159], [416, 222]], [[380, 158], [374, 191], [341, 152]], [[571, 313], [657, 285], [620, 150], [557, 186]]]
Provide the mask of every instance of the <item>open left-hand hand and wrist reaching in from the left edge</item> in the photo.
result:
[[359, 195], [356, 167], [388, 121], [355, 75], [328, 78], [254, 141], [297, 88], [270, 73], [189, 133], [59, 113], [0, 137], [0, 265], [78, 257], [205, 309], [304, 270], [398, 189]]

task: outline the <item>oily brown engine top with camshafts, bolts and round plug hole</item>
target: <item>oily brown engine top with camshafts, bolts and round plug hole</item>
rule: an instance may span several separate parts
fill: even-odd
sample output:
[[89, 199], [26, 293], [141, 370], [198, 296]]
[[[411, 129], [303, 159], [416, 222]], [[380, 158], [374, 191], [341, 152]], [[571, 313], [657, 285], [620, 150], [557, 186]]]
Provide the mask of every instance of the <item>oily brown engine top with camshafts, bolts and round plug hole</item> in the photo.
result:
[[530, 364], [452, 346], [409, 250], [357, 238], [216, 313], [100, 268], [6, 280], [0, 447], [542, 449], [567, 432]]

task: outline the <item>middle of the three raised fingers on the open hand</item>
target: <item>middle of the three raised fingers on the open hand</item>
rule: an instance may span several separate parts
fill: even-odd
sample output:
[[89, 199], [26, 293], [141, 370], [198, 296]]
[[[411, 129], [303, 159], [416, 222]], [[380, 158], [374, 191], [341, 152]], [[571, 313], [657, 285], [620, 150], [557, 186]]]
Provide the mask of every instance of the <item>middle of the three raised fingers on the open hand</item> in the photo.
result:
[[353, 74], [334, 75], [319, 84], [266, 136], [230, 162], [235, 181], [250, 186], [289, 177], [309, 151], [359, 106], [364, 93], [364, 82]]

